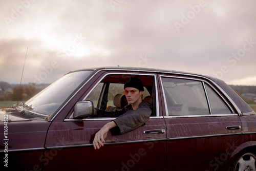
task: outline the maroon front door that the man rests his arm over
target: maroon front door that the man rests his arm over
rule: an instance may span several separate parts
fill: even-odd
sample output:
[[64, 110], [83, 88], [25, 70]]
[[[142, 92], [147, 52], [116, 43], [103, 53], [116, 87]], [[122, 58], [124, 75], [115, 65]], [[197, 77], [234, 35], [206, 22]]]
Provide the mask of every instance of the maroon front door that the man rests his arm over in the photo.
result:
[[[91, 100], [95, 108], [106, 108], [104, 101], [113, 95], [108, 81], [122, 84], [126, 78], [137, 76], [146, 84], [151, 83], [154, 111], [152, 117], [137, 130], [116, 135], [110, 131], [104, 146], [94, 149], [93, 139], [101, 127], [115, 118], [73, 118], [74, 105], [78, 101]], [[128, 72], [105, 72], [94, 76], [74, 97], [70, 104], [58, 114], [47, 134], [44, 169], [45, 170], [162, 170], [166, 169], [166, 125], [159, 111], [159, 90], [154, 74], [135, 74]], [[87, 89], [86, 89], [87, 88]], [[106, 91], [106, 88], [109, 88]], [[113, 85], [111, 87], [113, 89]], [[116, 90], [116, 87], [115, 89]], [[123, 91], [123, 88], [122, 88]], [[153, 92], [153, 93], [152, 93]], [[77, 93], [79, 94], [79, 93]], [[110, 104], [108, 104], [110, 105]], [[102, 109], [103, 110], [103, 109]], [[64, 111], [69, 111], [64, 114]], [[63, 117], [62, 115], [65, 115]]]

